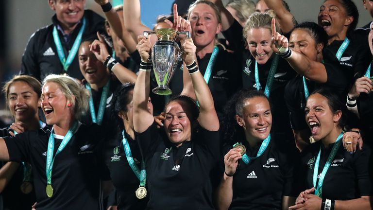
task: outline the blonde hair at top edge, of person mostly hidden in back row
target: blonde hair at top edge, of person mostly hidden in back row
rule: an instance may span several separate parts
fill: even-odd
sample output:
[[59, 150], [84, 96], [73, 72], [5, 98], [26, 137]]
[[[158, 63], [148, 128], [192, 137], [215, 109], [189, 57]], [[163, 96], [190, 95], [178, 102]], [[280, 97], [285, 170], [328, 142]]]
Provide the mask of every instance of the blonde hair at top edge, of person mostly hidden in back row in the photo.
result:
[[255, 12], [255, 3], [252, 0], [230, 0], [225, 7], [236, 10], [240, 22], [246, 22], [251, 14]]

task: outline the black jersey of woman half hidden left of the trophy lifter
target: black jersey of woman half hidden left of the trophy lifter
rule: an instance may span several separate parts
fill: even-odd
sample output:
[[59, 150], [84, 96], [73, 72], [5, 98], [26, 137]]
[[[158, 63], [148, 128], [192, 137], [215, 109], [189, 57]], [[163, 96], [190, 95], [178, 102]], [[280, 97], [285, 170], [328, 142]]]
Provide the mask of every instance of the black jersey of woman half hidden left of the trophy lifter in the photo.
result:
[[[125, 137], [130, 146], [132, 157], [138, 169], [141, 170], [142, 158], [138, 144], [126, 133]], [[149, 201], [149, 193], [143, 199], [136, 198], [135, 192], [140, 180], [127, 161], [121, 134], [117, 138], [105, 142], [104, 160], [117, 190], [118, 210], [144, 210]]]

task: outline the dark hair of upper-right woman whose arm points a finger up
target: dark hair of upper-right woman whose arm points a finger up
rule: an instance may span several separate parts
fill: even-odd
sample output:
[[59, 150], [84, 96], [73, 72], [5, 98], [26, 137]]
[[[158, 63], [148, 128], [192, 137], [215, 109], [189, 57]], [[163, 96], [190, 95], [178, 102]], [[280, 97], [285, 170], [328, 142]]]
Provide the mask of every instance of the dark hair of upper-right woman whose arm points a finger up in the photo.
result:
[[291, 33], [296, 29], [304, 29], [308, 31], [315, 39], [316, 44], [322, 43], [325, 47], [328, 43], [328, 34], [326, 34], [325, 30], [315, 22], [299, 23], [291, 30]]

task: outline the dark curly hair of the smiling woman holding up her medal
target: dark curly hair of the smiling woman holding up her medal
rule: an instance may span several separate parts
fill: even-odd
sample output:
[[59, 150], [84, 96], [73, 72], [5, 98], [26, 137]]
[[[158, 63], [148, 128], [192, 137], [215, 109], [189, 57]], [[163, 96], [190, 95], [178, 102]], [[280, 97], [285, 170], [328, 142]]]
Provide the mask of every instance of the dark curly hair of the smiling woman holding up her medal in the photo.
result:
[[[227, 102], [223, 109], [223, 117], [221, 120], [221, 128], [223, 134], [223, 140], [225, 143], [235, 143], [237, 140], [245, 138], [244, 130], [237, 124], [236, 114], [242, 117], [243, 107], [246, 100], [255, 97], [263, 97], [268, 100], [267, 96], [263, 91], [249, 90], [246, 88], [237, 91], [232, 98]], [[271, 107], [271, 103], [270, 103]]]

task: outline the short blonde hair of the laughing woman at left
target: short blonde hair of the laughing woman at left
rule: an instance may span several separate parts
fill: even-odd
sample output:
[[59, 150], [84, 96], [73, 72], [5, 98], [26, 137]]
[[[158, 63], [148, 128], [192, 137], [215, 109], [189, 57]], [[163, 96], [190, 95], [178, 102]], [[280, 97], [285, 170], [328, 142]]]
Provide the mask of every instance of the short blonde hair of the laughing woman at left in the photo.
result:
[[47, 83], [56, 83], [74, 108], [74, 116], [79, 120], [88, 110], [89, 92], [69, 76], [50, 74], [43, 80], [43, 88]]

